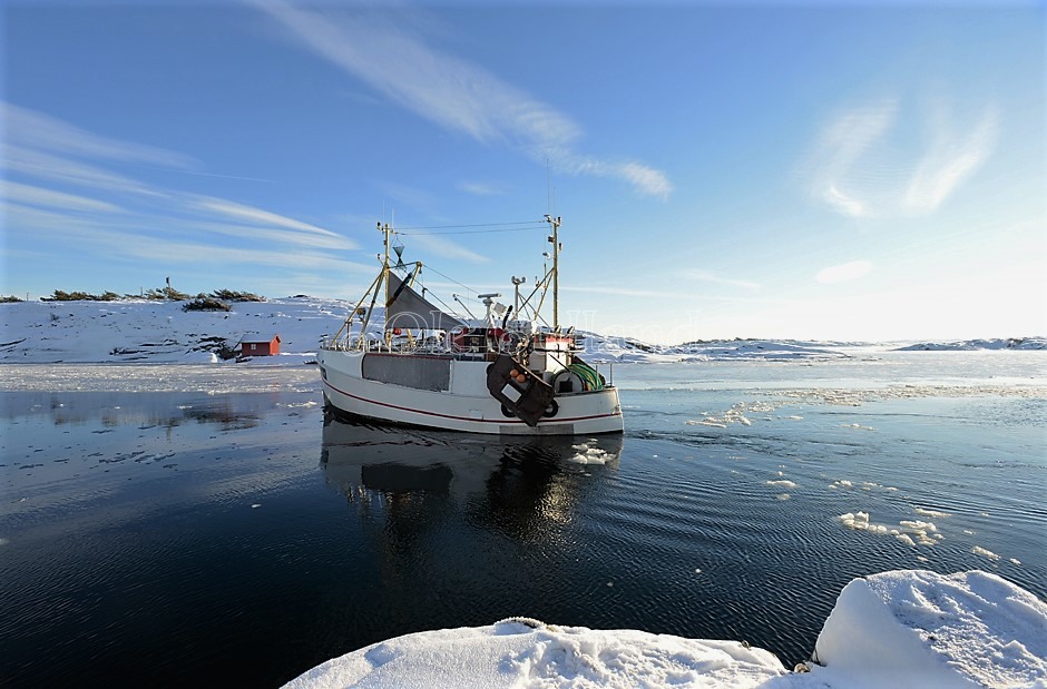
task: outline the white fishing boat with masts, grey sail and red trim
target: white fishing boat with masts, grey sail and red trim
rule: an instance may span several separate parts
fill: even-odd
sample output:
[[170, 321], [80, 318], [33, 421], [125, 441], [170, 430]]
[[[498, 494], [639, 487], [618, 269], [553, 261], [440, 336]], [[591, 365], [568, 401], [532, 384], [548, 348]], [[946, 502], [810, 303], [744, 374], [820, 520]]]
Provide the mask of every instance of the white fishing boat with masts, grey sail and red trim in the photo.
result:
[[[434, 305], [420, 287], [422, 263], [404, 264], [397, 230], [379, 223], [381, 270], [317, 351], [326, 406], [351, 417], [467, 433], [620, 433], [614, 381], [581, 358], [574, 328], [559, 323], [560, 218], [544, 222], [551, 267], [526, 297], [519, 289], [525, 280], [513, 277], [511, 306], [497, 301], [501, 294], [477, 295], [482, 317]], [[552, 319], [546, 322], [541, 308], [550, 294]]]

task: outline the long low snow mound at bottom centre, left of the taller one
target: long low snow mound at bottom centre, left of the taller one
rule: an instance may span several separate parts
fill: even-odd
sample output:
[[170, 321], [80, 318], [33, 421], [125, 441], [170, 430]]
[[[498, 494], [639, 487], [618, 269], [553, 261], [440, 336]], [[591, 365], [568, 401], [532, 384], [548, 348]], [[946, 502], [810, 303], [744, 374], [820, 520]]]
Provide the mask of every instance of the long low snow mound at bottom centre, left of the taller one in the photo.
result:
[[760, 687], [786, 670], [738, 641], [540, 622], [442, 629], [325, 662], [288, 689], [342, 687]]

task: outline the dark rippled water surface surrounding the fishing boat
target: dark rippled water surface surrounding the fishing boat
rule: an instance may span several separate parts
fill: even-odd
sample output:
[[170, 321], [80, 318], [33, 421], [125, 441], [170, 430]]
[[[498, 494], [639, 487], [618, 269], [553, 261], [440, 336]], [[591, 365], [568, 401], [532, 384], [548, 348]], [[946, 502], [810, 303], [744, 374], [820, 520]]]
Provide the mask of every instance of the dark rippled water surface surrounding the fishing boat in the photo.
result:
[[3, 366], [0, 683], [278, 686], [513, 614], [791, 666], [853, 577], [1044, 597], [1043, 358], [972, 361], [616, 366], [625, 436], [541, 442], [350, 425], [315, 371]]

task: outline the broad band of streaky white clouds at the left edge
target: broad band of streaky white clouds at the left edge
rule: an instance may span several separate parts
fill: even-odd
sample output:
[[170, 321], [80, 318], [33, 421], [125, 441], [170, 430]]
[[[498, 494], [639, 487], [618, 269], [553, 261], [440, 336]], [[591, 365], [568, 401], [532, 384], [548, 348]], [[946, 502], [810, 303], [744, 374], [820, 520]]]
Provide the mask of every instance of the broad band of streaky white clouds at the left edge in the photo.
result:
[[[296, 269], [340, 260], [329, 260], [317, 252], [356, 248], [346, 237], [312, 223], [157, 186], [111, 169], [131, 164], [189, 171], [185, 168], [197, 164], [186, 156], [101, 137], [11, 104], [0, 107], [10, 118], [3, 141], [0, 211], [11, 232], [41, 240], [82, 242], [88, 252], [105, 245], [118, 255], [136, 254], [146, 243], [155, 250], [154, 259], [188, 262], [222, 255], [233, 260], [249, 255], [265, 265]], [[260, 253], [226, 249], [221, 244], [228, 240], [217, 240], [219, 236], [251, 237], [253, 250]], [[165, 243], [172, 250], [163, 248]], [[186, 246], [196, 247], [195, 256], [175, 250]], [[291, 255], [296, 257], [286, 257]]]

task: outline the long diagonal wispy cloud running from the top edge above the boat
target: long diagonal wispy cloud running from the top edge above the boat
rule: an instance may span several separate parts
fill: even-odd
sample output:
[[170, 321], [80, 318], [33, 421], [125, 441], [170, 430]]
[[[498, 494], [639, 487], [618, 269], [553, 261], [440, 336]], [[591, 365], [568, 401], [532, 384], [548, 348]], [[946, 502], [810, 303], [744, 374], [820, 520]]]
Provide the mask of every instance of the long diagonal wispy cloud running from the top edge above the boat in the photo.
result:
[[569, 174], [616, 178], [646, 196], [667, 198], [673, 191], [668, 177], [645, 164], [578, 152], [583, 131], [569, 117], [487, 69], [432, 48], [402, 24], [373, 12], [306, 10], [274, 0], [254, 4], [313, 52], [448, 130]]

